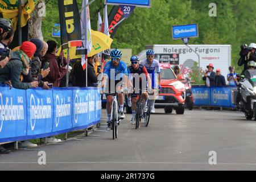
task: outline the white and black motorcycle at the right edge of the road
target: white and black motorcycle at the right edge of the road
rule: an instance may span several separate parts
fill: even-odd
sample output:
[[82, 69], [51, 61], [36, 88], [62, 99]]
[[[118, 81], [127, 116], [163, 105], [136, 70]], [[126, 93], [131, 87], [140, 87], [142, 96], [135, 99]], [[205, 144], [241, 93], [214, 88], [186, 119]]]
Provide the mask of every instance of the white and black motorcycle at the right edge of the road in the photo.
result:
[[256, 121], [256, 70], [246, 70], [244, 76], [239, 77], [236, 102], [247, 120]]

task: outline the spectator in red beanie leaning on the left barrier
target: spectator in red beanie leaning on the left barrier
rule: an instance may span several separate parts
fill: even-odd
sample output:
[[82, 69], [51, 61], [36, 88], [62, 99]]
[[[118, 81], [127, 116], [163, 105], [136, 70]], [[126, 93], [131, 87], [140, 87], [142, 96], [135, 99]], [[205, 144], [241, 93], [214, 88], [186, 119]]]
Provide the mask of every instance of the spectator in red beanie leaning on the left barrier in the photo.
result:
[[6, 67], [2, 69], [0, 82], [5, 84], [11, 81], [11, 84], [16, 89], [28, 89], [36, 88], [38, 86], [37, 81], [29, 83], [22, 82], [22, 75], [27, 75], [29, 72], [30, 58], [36, 51], [35, 44], [31, 42], [23, 42], [20, 49], [11, 53], [11, 59]]

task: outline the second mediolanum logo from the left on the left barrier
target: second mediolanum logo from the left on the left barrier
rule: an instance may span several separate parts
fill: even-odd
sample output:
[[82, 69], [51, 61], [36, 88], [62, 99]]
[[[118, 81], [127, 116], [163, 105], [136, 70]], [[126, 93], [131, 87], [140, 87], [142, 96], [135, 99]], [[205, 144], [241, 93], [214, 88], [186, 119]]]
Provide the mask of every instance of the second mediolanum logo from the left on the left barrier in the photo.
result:
[[[46, 98], [47, 104], [51, 104], [51, 98]], [[30, 96], [30, 125], [31, 130], [34, 131], [37, 119], [49, 119], [52, 115], [52, 106], [44, 105], [43, 98], [36, 99], [34, 94]]]

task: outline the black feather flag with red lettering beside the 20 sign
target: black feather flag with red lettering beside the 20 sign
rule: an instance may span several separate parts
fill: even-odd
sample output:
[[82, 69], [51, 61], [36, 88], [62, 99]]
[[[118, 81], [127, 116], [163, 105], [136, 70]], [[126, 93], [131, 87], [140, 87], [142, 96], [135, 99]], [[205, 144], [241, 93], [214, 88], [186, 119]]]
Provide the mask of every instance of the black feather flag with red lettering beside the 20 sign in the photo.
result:
[[[108, 16], [109, 30], [110, 30], [110, 28], [115, 26], [115, 24], [117, 24], [121, 19], [123, 19], [123, 17], [125, 17], [125, 16], [123, 15], [121, 7], [114, 6]], [[117, 31], [119, 26], [120, 26], [120, 24], [118, 24], [116, 27], [114, 27], [112, 30], [109, 31], [109, 34], [111, 34], [110, 38], [113, 38], [113, 36], [115, 35], [115, 32]]]

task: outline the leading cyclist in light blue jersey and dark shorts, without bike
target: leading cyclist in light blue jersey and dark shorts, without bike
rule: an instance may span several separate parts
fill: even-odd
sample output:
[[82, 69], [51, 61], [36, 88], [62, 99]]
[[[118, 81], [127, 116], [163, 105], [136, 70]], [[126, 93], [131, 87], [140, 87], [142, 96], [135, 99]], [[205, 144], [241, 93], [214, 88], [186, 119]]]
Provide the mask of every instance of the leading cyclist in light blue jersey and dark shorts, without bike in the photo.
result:
[[[111, 129], [111, 109], [113, 103], [113, 95], [117, 94], [119, 103], [119, 115], [120, 119], [125, 118], [123, 113], [123, 92], [127, 92], [127, 65], [121, 61], [122, 52], [118, 49], [114, 49], [110, 52], [111, 60], [106, 63], [104, 68], [104, 74], [102, 79], [102, 92], [106, 94], [106, 110], [108, 112], [108, 123], [106, 129]], [[107, 90], [106, 90], [107, 89]]]

